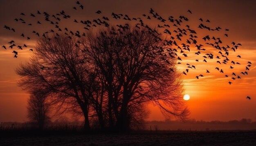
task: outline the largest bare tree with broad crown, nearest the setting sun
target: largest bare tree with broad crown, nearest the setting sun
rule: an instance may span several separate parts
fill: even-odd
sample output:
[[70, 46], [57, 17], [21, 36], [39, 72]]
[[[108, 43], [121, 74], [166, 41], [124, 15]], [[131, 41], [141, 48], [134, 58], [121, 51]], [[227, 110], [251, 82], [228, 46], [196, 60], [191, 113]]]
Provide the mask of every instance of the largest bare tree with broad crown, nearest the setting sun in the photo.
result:
[[[155, 29], [128, 24], [88, 33], [82, 40], [85, 56], [104, 76], [108, 92], [110, 126], [127, 130], [142, 104], [152, 102], [163, 113], [182, 119], [189, 110], [182, 100], [180, 73], [175, 69], [175, 53]], [[137, 109], [138, 111], [136, 111]]]

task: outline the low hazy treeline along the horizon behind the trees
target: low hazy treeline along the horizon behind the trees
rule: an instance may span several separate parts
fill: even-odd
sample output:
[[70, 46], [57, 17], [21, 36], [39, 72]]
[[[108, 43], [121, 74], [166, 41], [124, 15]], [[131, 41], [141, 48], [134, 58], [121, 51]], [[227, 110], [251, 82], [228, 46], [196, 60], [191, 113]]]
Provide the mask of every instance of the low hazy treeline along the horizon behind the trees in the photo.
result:
[[[11, 129], [33, 129], [37, 126], [36, 123], [31, 122], [1, 122], [0, 130]], [[97, 129], [97, 125], [92, 125], [92, 128]], [[54, 122], [49, 122], [45, 129], [48, 130], [67, 130], [80, 131], [83, 129], [83, 121], [70, 121], [67, 118], [60, 118]], [[137, 130], [170, 130], [170, 131], [212, 131], [212, 130], [255, 130], [256, 121], [252, 119], [230, 120], [230, 121], [196, 121], [195, 119], [187, 122], [181, 121], [146, 121], [144, 126]]]

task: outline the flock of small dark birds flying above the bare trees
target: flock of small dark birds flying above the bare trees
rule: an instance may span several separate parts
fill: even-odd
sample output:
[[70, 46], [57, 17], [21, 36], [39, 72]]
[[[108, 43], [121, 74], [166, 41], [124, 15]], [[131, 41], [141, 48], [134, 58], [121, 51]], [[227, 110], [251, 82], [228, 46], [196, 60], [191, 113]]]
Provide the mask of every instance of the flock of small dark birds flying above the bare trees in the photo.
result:
[[[70, 8], [74, 11], [83, 11], [84, 7], [83, 5], [77, 1], [74, 3], [74, 7]], [[182, 64], [183, 60], [185, 58], [189, 58], [190, 55], [196, 55], [198, 58], [195, 60], [196, 62], [209, 62], [209, 60], [217, 60], [216, 64], [225, 64], [227, 66], [230, 66], [229, 69], [234, 69], [236, 66], [241, 65], [239, 62], [236, 62], [235, 60], [229, 60], [229, 53], [236, 52], [236, 50], [239, 48], [239, 46], [242, 46], [240, 43], [231, 42], [230, 44], [224, 44], [222, 42], [221, 37], [213, 36], [213, 35], [206, 35], [202, 38], [198, 35], [196, 29], [201, 29], [203, 31], [208, 31], [209, 34], [211, 32], [218, 32], [222, 37], [227, 38], [229, 29], [222, 29], [221, 27], [209, 27], [210, 26], [210, 20], [204, 20], [203, 18], [198, 18], [198, 26], [196, 29], [193, 29], [188, 23], [189, 23], [189, 17], [180, 15], [178, 18], [175, 18], [173, 16], [169, 16], [167, 19], [159, 15], [157, 12], [155, 12], [152, 8], [150, 8], [149, 13], [144, 13], [140, 15], [139, 17], [129, 17], [128, 14], [122, 14], [122, 13], [111, 13], [111, 15], [106, 16], [103, 15], [103, 12], [98, 10], [95, 12], [96, 15], [99, 17], [93, 20], [76, 20], [73, 19], [69, 14], [65, 13], [64, 10], [60, 11], [59, 13], [55, 14], [49, 14], [47, 12], [40, 12], [37, 11], [36, 13], [20, 13], [21, 18], [15, 18], [14, 21], [17, 23], [26, 24], [28, 26], [34, 26], [34, 25], [50, 25], [52, 29], [45, 30], [44, 33], [40, 34], [38, 31], [31, 31], [34, 33], [34, 36], [29, 36], [25, 32], [19, 34], [20, 37], [25, 38], [26, 40], [30, 40], [31, 38], [35, 37], [43, 37], [48, 40], [51, 40], [52, 38], [48, 38], [48, 33], [54, 34], [55, 37], [60, 36], [59, 33], [64, 33], [68, 36], [68, 38], [72, 38], [72, 36], [76, 36], [78, 38], [81, 38], [81, 36], [85, 36], [85, 31], [91, 31], [93, 28], [96, 27], [110, 27], [110, 21], [111, 20], [121, 20], [122, 22], [128, 22], [135, 24], [135, 27], [138, 29], [141, 29], [142, 27], [145, 27], [148, 29], [149, 32], [152, 34], [158, 33], [159, 31], [166, 35], [166, 38], [163, 40], [164, 45], [169, 46], [169, 49], [167, 49], [164, 52], [165, 56], [169, 56], [171, 58], [177, 59], [177, 64]], [[193, 15], [191, 10], [187, 11], [188, 15]], [[39, 20], [35, 20], [34, 22], [26, 22], [25, 18], [27, 17], [33, 17], [33, 18], [42, 18], [44, 19], [44, 22], [40, 22]], [[60, 23], [62, 20], [71, 20], [73, 23], [79, 23], [83, 24], [83, 31], [80, 30], [72, 30], [76, 28], [68, 29], [67, 27], [62, 28], [60, 27]], [[150, 27], [147, 25], [150, 23], [150, 21], [157, 21], [159, 24], [155, 26], [155, 28]], [[150, 23], [152, 24], [152, 23]], [[117, 24], [118, 27], [117, 30], [113, 30], [113, 34], [115, 34], [116, 31], [119, 31], [121, 33], [121, 30], [126, 29], [129, 24]], [[31, 27], [35, 29], [35, 27]], [[7, 25], [4, 25], [4, 29], [7, 29], [7, 31], [11, 31], [13, 33], [17, 33], [16, 29], [9, 27]], [[114, 28], [112, 28], [114, 29]], [[162, 38], [155, 36], [155, 40], [162, 40]], [[169, 39], [168, 39], [169, 38]], [[225, 40], [225, 38], [223, 40]], [[204, 42], [199, 43], [199, 42]], [[16, 45], [16, 42], [14, 40], [11, 40], [8, 42], [9, 46], [2, 46], [3, 49], [25, 49], [27, 48], [26, 44], [20, 44]], [[77, 43], [80, 43], [79, 41]], [[78, 45], [76, 45], [78, 46]], [[207, 49], [211, 48], [211, 49]], [[159, 48], [155, 48], [159, 49]], [[161, 48], [160, 48], [161, 49]], [[29, 49], [29, 51], [33, 51], [33, 49]], [[14, 58], [18, 57], [18, 51], [13, 50]], [[238, 59], [241, 58], [240, 55], [236, 56]], [[183, 58], [183, 59], [182, 59]], [[166, 60], [167, 61], [167, 60]], [[186, 64], [186, 63], [184, 63]], [[240, 73], [232, 72], [231, 74], [226, 74], [226, 71], [224, 69], [221, 69], [216, 65], [215, 69], [207, 69], [205, 73], [210, 73], [212, 70], [217, 70], [221, 74], [223, 74], [224, 77], [229, 78], [229, 82], [227, 84], [232, 84], [231, 81], [241, 79], [242, 76], [248, 75], [248, 72], [250, 67], [252, 66], [252, 62], [248, 61], [245, 65], [244, 71], [241, 71]], [[182, 72], [184, 75], [187, 75], [189, 73], [190, 69], [196, 69], [195, 65], [192, 64], [186, 64], [186, 69]], [[210, 70], [210, 71], [209, 71]], [[171, 69], [171, 71], [174, 71]], [[203, 73], [200, 75], [195, 76], [196, 79], [200, 79], [200, 77], [204, 77]], [[251, 99], [250, 97], [247, 97], [247, 99]]]

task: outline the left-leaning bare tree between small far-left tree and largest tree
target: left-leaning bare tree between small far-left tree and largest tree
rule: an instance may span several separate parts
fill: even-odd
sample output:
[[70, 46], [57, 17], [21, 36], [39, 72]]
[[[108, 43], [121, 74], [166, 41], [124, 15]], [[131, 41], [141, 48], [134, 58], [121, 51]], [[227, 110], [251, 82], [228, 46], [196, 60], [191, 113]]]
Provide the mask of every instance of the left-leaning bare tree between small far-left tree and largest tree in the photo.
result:
[[23, 89], [42, 87], [56, 104], [83, 115], [84, 127], [89, 129], [93, 66], [85, 62], [76, 41], [64, 35], [41, 38], [30, 62], [21, 64], [16, 72], [22, 77], [19, 84]]

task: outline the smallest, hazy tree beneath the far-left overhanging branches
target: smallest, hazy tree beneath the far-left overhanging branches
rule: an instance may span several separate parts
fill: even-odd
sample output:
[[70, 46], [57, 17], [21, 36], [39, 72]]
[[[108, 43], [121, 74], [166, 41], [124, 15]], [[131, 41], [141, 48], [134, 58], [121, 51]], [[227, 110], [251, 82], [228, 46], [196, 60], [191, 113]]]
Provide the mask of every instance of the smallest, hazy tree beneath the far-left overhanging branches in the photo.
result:
[[46, 96], [40, 93], [32, 93], [28, 100], [28, 118], [30, 122], [36, 122], [39, 129], [43, 129], [50, 121], [50, 104], [47, 103]]

